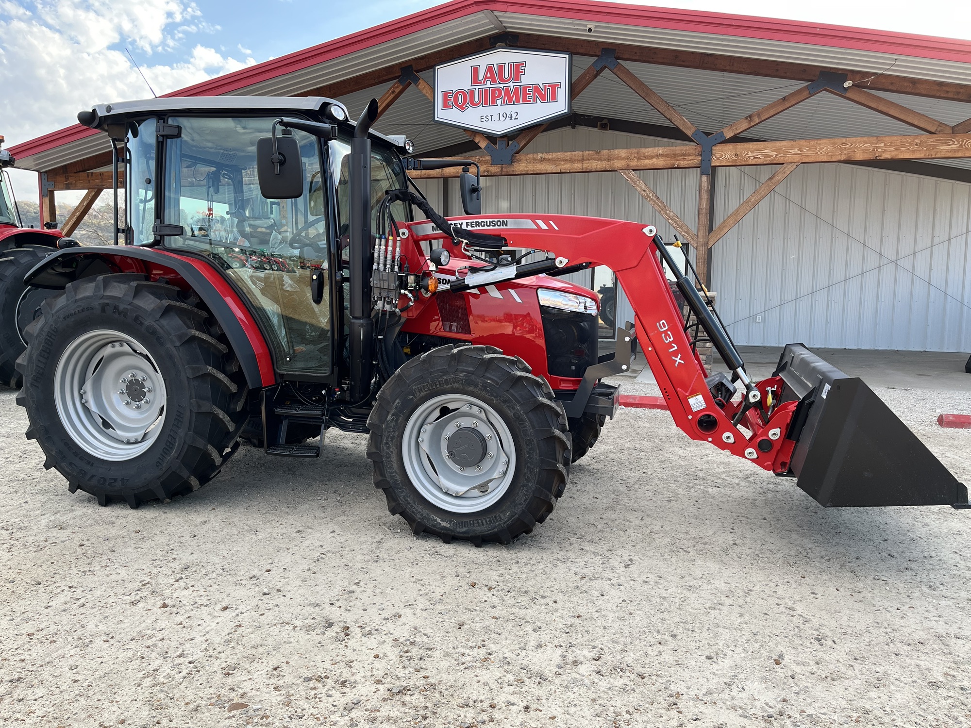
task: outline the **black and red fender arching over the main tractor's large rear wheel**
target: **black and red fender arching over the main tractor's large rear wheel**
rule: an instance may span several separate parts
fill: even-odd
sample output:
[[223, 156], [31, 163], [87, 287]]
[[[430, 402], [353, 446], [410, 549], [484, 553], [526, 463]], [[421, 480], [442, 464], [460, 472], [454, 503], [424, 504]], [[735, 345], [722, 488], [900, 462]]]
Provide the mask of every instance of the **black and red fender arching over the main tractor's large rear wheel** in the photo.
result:
[[216, 316], [247, 383], [253, 389], [277, 381], [270, 348], [246, 304], [206, 259], [154, 248], [99, 246], [58, 250], [23, 281], [38, 288], [63, 289], [68, 283], [107, 273], [144, 273], [194, 291]]

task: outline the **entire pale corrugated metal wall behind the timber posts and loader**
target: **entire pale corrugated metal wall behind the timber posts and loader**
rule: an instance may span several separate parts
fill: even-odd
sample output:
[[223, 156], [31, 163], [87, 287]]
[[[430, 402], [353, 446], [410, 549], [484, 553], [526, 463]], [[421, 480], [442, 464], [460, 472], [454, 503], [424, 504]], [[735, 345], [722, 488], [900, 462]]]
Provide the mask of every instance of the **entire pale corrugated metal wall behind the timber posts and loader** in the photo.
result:
[[[529, 151], [677, 144], [581, 127], [544, 134]], [[716, 170], [716, 222], [775, 169]], [[696, 170], [639, 174], [693, 227]], [[448, 212], [459, 215], [458, 185], [450, 184]], [[484, 187], [486, 214], [614, 217], [651, 222], [665, 238], [674, 235], [617, 173], [489, 178]], [[441, 182], [424, 188], [439, 204]], [[712, 248], [712, 289], [740, 345], [968, 351], [969, 231], [971, 184], [805, 165]], [[631, 317], [621, 297], [618, 320]]]

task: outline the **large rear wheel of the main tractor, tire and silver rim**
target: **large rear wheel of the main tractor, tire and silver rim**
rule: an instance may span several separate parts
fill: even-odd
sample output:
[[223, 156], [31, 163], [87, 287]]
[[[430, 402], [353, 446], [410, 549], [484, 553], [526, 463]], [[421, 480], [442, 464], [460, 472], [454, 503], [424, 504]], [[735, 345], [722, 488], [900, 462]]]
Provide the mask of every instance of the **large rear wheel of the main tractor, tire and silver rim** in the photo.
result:
[[164, 502], [212, 480], [236, 451], [247, 384], [199, 306], [191, 292], [122, 273], [68, 284], [27, 327], [17, 404], [44, 467], [72, 493], [102, 506]]

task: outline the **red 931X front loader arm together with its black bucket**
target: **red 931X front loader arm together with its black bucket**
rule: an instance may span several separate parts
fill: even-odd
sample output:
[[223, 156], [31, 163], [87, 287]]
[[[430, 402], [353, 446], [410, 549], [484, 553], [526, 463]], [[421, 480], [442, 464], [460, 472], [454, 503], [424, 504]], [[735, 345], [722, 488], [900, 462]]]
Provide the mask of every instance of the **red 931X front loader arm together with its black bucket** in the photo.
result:
[[[964, 485], [865, 383], [847, 377], [806, 347], [788, 345], [775, 376], [752, 381], [718, 315], [680, 271], [652, 225], [570, 215], [485, 215], [448, 221], [450, 232], [456, 234], [445, 234], [428, 222], [410, 227], [417, 241], [444, 238], [466, 249], [476, 248], [477, 239], [466, 232], [487, 231], [498, 235], [496, 240], [505, 247], [551, 253], [545, 262], [551, 270], [610, 268], [634, 310], [638, 343], [668, 409], [692, 440], [712, 443], [778, 476], [797, 478], [797, 484], [823, 506], [967, 507]], [[688, 336], [694, 324], [686, 325], [664, 263], [678, 277], [687, 306], [728, 366], [730, 378], [706, 371]], [[468, 289], [541, 272], [542, 261], [483, 272], [473, 268], [451, 287]], [[619, 329], [619, 337], [625, 333]], [[602, 376], [599, 371], [591, 374]], [[736, 381], [741, 398], [734, 396]]]

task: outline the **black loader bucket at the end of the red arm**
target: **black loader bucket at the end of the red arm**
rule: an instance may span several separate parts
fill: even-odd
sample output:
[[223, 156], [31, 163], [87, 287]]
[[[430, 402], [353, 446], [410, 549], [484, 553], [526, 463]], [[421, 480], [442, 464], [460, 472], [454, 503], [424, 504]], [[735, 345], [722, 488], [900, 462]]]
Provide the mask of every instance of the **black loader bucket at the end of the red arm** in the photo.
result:
[[799, 399], [790, 472], [822, 506], [968, 507], [967, 488], [862, 380], [801, 344], [776, 374]]

